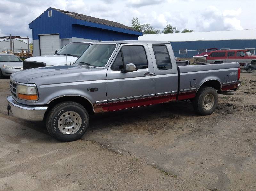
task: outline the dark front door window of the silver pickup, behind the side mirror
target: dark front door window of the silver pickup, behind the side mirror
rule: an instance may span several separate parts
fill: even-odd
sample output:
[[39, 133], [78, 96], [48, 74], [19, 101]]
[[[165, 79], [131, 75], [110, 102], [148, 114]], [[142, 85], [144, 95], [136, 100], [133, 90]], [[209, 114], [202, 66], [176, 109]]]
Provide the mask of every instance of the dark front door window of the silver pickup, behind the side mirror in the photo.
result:
[[148, 68], [146, 51], [142, 45], [124, 45], [119, 51], [111, 69], [122, 70], [124, 65], [133, 63], [139, 69]]

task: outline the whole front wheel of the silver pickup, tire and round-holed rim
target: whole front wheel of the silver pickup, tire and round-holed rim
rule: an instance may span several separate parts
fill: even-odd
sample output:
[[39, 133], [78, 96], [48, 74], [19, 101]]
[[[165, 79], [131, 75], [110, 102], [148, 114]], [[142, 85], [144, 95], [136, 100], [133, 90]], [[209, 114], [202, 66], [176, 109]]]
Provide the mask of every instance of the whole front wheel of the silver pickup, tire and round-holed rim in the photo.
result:
[[61, 142], [80, 139], [88, 126], [88, 112], [76, 102], [61, 102], [55, 105], [46, 118], [49, 134]]

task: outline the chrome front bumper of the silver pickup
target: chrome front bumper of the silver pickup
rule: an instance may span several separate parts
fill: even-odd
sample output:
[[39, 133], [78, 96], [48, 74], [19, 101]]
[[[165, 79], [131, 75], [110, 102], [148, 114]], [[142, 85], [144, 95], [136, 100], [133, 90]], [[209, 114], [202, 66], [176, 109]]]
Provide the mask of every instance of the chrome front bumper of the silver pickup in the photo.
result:
[[12, 96], [7, 97], [7, 110], [13, 114], [14, 117], [25, 119], [28, 121], [42, 121], [44, 114], [48, 107], [30, 106], [17, 103]]

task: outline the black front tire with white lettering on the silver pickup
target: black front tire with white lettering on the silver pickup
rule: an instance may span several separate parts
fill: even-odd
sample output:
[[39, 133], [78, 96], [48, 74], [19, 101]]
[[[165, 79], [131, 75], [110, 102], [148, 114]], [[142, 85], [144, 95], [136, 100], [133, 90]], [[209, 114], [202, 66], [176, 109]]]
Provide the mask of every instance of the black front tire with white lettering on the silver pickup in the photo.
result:
[[[64, 129], [64, 126], [60, 126], [60, 120], [62, 120], [64, 113], [74, 112], [79, 116], [79, 124], [76, 126], [76, 132], [72, 134], [64, 134], [60, 131], [59, 127]], [[74, 115], [75, 116], [75, 115]], [[65, 116], [68, 117], [68, 116]], [[72, 116], [70, 116], [72, 117]], [[74, 119], [77, 120], [77, 119]], [[64, 120], [63, 120], [64, 121]], [[72, 123], [72, 122], [71, 122]], [[74, 123], [74, 121], [73, 121]], [[66, 125], [66, 122], [65, 122]], [[46, 128], [49, 134], [61, 142], [76, 141], [80, 139], [85, 133], [87, 127], [89, 126], [89, 115], [86, 109], [79, 103], [76, 102], [61, 102], [55, 105], [46, 117]], [[68, 127], [66, 127], [68, 128]], [[73, 127], [72, 127], [73, 128]], [[66, 130], [66, 129], [65, 129]], [[71, 131], [72, 129], [70, 129]], [[63, 130], [64, 131], [64, 130]], [[69, 131], [69, 129], [68, 129]], [[71, 132], [68, 133], [71, 133]], [[73, 132], [73, 131], [72, 131]]]

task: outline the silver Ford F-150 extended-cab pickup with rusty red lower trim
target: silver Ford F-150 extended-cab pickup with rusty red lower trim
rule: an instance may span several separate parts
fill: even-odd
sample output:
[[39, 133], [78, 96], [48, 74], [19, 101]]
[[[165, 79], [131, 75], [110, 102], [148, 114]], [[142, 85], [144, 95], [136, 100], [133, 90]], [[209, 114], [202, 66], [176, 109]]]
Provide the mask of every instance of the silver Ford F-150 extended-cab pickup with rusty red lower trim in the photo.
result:
[[196, 113], [209, 115], [218, 93], [239, 88], [239, 77], [239, 63], [177, 66], [169, 42], [95, 42], [75, 63], [12, 74], [7, 108], [46, 121], [59, 141], [74, 141], [89, 114], [190, 99]]

